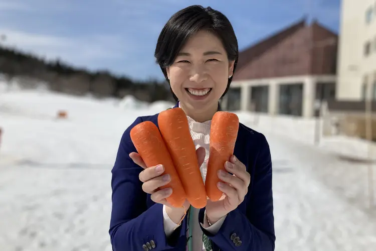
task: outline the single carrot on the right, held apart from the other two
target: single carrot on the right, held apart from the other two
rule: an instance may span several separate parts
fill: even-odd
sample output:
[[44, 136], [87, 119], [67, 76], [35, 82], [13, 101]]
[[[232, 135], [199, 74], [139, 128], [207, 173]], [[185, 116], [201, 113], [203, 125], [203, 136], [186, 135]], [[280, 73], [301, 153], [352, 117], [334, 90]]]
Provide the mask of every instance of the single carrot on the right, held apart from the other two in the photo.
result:
[[212, 201], [218, 201], [222, 197], [222, 191], [217, 183], [221, 181], [218, 171], [225, 169], [226, 161], [234, 154], [235, 142], [238, 136], [239, 118], [235, 113], [217, 111], [212, 119], [210, 127], [210, 150], [205, 189]]

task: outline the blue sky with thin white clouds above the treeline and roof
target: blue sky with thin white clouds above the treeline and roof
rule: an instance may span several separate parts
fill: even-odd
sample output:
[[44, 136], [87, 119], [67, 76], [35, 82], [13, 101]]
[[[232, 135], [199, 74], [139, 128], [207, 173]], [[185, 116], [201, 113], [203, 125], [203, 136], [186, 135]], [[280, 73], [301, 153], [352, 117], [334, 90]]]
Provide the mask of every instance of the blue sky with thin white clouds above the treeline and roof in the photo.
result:
[[154, 49], [176, 11], [210, 6], [232, 22], [240, 50], [308, 14], [338, 32], [340, 0], [0, 0], [0, 43], [133, 79], [162, 79]]

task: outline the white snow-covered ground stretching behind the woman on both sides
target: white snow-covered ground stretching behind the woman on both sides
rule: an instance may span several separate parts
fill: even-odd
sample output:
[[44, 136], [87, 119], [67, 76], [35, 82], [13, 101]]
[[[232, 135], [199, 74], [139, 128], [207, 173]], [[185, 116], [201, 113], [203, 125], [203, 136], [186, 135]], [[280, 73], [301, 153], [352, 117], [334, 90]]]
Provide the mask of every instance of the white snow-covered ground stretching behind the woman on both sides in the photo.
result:
[[[126, 109], [131, 101], [0, 93], [1, 250], [112, 250], [110, 170], [120, 137], [136, 116], [169, 106]], [[55, 118], [60, 109], [68, 119]], [[239, 116], [271, 146], [276, 251], [375, 250], [376, 219], [364, 206], [365, 166]]]

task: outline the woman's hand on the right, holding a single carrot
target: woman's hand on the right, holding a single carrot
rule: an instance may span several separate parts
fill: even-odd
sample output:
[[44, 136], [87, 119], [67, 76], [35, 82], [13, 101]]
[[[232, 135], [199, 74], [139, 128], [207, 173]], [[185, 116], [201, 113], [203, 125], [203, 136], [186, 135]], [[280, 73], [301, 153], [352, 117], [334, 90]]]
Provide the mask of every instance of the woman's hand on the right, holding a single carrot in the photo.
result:
[[246, 166], [234, 155], [231, 156], [230, 162], [225, 163], [225, 169], [234, 175], [223, 170], [218, 173], [218, 177], [224, 182], [219, 182], [217, 187], [224, 194], [219, 201], [208, 199], [206, 215], [211, 224], [216, 223], [243, 202], [251, 182], [251, 175], [247, 172]]

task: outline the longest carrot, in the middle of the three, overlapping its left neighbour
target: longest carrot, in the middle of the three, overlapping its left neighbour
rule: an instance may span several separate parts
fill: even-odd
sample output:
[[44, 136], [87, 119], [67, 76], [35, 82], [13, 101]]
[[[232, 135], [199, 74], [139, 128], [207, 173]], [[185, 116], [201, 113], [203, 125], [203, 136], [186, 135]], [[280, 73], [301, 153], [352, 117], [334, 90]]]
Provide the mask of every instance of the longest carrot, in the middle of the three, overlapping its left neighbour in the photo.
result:
[[158, 126], [187, 200], [195, 208], [205, 207], [207, 202], [205, 185], [184, 111], [179, 107], [161, 111], [158, 114]]

